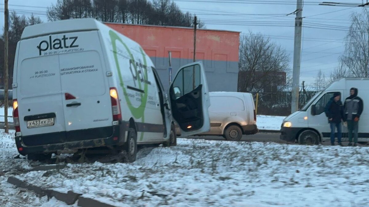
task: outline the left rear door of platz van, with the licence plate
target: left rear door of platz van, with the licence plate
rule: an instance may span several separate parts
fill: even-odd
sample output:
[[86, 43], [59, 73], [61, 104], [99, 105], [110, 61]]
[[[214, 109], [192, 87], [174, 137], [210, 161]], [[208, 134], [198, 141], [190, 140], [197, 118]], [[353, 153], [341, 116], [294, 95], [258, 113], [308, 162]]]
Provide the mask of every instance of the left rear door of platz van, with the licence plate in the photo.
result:
[[[51, 35], [56, 37], [56, 35]], [[20, 129], [23, 136], [56, 133], [65, 138], [59, 57], [41, 55], [38, 45], [45, 46], [49, 36], [25, 39], [19, 43], [16, 72], [17, 101]], [[46, 43], [42, 43], [46, 42]], [[15, 81], [14, 81], [15, 82]], [[36, 144], [37, 140], [26, 145]]]

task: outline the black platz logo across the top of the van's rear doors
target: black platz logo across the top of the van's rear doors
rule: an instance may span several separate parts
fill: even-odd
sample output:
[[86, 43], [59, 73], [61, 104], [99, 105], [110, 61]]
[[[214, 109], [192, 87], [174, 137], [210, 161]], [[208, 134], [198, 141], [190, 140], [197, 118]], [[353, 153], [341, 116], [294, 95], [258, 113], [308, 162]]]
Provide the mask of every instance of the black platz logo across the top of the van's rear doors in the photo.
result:
[[41, 52], [47, 51], [47, 50], [58, 50], [58, 49], [65, 49], [65, 48], [77, 48], [79, 45], [76, 45], [78, 37], [66, 37], [63, 35], [63, 38], [55, 38], [52, 39], [51, 35], [49, 36], [49, 41], [43, 40], [41, 41], [37, 49], [39, 51], [39, 55], [41, 55]]

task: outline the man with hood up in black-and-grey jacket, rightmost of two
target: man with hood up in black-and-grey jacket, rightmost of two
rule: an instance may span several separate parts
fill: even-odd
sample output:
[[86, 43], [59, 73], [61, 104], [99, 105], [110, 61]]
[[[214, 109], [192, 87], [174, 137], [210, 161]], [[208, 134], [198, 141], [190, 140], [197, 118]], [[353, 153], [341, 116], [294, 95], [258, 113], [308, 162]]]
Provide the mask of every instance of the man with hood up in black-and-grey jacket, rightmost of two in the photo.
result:
[[345, 100], [345, 119], [347, 120], [349, 146], [352, 146], [352, 131], [354, 131], [354, 146], [358, 143], [359, 119], [363, 112], [363, 100], [358, 97], [358, 89], [351, 88], [350, 96]]

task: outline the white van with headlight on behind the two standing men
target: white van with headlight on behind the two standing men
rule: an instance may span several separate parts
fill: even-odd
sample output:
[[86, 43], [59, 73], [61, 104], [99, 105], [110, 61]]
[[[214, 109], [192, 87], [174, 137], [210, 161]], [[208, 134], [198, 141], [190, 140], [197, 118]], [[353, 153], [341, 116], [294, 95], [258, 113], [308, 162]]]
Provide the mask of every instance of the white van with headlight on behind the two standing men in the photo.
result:
[[[362, 98], [364, 109], [359, 121], [359, 143], [369, 141], [369, 78], [341, 78], [313, 98], [299, 111], [287, 116], [281, 126], [280, 139], [300, 144], [319, 144], [330, 141], [330, 124], [324, 113], [324, 107], [335, 92], [341, 94], [341, 101], [349, 97], [350, 88], [358, 88], [358, 96]], [[337, 137], [337, 136], [336, 136]], [[342, 126], [342, 141], [348, 141], [347, 127]]]

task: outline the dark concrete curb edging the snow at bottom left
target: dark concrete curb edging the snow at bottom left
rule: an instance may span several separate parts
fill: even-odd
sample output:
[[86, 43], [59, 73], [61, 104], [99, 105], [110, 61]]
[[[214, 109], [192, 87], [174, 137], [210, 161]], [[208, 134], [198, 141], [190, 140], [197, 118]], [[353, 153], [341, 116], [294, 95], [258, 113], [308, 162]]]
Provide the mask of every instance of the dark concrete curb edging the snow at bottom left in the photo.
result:
[[117, 207], [110, 204], [102, 203], [95, 199], [83, 197], [82, 194], [75, 193], [71, 190], [69, 190], [67, 193], [61, 193], [55, 190], [42, 189], [41, 187], [27, 184], [25, 181], [14, 177], [9, 177], [8, 183], [17, 187], [32, 190], [33, 192], [40, 194], [41, 196], [48, 196], [48, 198], [55, 197], [56, 199], [63, 201], [68, 205], [73, 205], [78, 200], [77, 205], [80, 207]]

